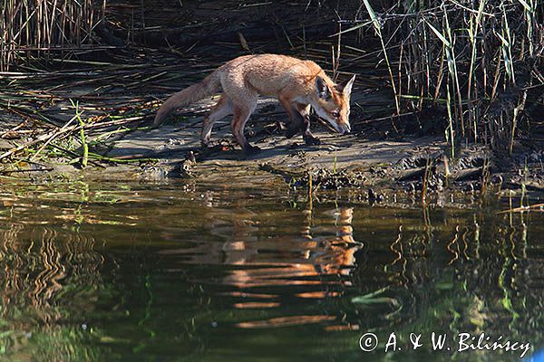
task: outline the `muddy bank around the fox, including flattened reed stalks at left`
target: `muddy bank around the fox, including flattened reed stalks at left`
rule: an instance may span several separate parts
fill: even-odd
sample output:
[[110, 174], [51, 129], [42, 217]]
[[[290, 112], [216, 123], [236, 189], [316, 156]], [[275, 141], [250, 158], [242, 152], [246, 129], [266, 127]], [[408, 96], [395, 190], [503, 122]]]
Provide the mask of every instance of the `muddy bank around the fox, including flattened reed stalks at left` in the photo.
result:
[[[366, 80], [356, 85], [352, 96], [350, 135], [335, 134], [314, 119], [312, 129], [321, 145], [306, 146], [301, 136], [287, 139], [281, 128], [287, 114], [276, 100], [261, 99], [246, 129], [250, 142], [262, 149], [259, 154], [246, 157], [239, 150], [230, 134], [230, 118], [216, 123], [212, 147], [203, 150], [201, 121], [214, 99], [180, 110], [159, 129], [151, 129], [160, 105], [158, 97], [166, 98], [164, 92], [156, 95], [151, 90], [158, 87], [165, 71], [159, 68], [154, 79], [137, 72], [141, 80], [134, 81], [132, 66], [78, 74], [81, 81], [72, 82], [71, 74], [38, 75], [46, 81], [44, 88], [34, 90], [39, 98], [33, 103], [26, 94], [35, 81], [15, 75], [19, 85], [12, 94], [19, 103], [3, 115], [0, 124], [0, 153], [9, 154], [0, 164], [0, 176], [38, 181], [83, 177], [167, 182], [182, 178], [248, 185], [258, 179], [286, 183], [294, 189], [308, 188], [311, 178], [314, 188], [348, 187], [370, 198], [373, 193], [379, 198], [382, 189], [410, 193], [479, 192], [491, 185], [519, 191], [544, 189], [541, 150], [520, 145], [514, 155], [502, 155], [483, 146], [464, 145], [453, 150], [452, 158], [443, 130], [428, 127], [437, 123], [432, 115], [426, 121], [424, 117], [384, 116], [391, 114], [386, 112], [393, 107], [392, 94], [368, 88]], [[168, 81], [167, 94], [194, 82], [177, 81], [187, 71], [175, 74]], [[117, 82], [103, 93], [104, 78], [112, 77]], [[34, 113], [23, 113], [25, 110]], [[77, 112], [83, 126], [75, 117]], [[63, 126], [38, 123], [38, 116]], [[392, 131], [393, 121], [402, 131]], [[82, 127], [90, 152], [84, 169]]]

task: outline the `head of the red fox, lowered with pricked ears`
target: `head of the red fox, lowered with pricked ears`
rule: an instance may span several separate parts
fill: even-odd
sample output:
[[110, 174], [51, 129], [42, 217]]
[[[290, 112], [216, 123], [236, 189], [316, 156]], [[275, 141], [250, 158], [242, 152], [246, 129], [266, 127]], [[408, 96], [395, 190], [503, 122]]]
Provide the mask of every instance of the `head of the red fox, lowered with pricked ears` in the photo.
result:
[[319, 117], [326, 119], [341, 134], [351, 131], [349, 124], [349, 99], [355, 75], [340, 84], [327, 84], [327, 81], [316, 76], [316, 94], [312, 97], [312, 106]]

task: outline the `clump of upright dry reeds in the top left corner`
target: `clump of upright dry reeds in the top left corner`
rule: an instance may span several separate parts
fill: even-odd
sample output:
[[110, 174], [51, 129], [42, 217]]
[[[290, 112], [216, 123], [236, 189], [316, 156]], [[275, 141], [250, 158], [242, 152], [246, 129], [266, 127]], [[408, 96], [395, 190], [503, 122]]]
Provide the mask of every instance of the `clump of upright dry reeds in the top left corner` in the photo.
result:
[[92, 43], [92, 29], [103, 19], [105, 4], [105, 0], [0, 0], [0, 71], [32, 54]]

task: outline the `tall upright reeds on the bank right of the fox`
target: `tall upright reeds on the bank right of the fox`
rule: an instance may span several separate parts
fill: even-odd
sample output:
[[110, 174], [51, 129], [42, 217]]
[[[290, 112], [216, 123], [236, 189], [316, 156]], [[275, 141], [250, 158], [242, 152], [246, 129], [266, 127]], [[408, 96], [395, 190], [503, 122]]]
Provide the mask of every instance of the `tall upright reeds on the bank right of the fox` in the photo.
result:
[[400, 45], [385, 61], [398, 62], [393, 91], [403, 109], [443, 108], [452, 153], [470, 141], [513, 150], [528, 94], [544, 92], [544, 1], [364, 5], [367, 18], [382, 20], [380, 42]]

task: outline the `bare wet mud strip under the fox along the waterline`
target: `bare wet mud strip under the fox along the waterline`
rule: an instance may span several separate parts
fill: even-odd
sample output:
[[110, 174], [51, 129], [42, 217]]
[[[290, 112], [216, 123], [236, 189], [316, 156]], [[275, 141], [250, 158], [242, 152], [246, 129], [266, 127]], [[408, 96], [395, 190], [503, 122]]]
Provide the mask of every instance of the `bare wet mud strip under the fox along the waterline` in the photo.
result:
[[[354, 95], [355, 104], [377, 101], [383, 94]], [[352, 123], [355, 131], [340, 136], [325, 124], [312, 127], [321, 145], [306, 146], [302, 137], [286, 138], [281, 123], [287, 115], [276, 100], [259, 100], [254, 116], [248, 122], [248, 139], [262, 149], [247, 157], [232, 139], [228, 118], [216, 123], [212, 144], [200, 147], [199, 130], [203, 114], [213, 104], [204, 100], [187, 112], [171, 117], [159, 129], [141, 127], [121, 132], [102, 142], [101, 154], [107, 162], [93, 162], [86, 169], [67, 165], [62, 157], [49, 159], [43, 171], [5, 172], [5, 176], [24, 176], [34, 180], [84, 177], [86, 180], [170, 182], [183, 179], [191, 182], [217, 182], [228, 185], [255, 182], [285, 183], [293, 190], [353, 189], [369, 201], [381, 201], [388, 191], [406, 195], [471, 192], [523, 187], [543, 190], [542, 153], [510, 158], [510, 164], [498, 164], [497, 157], [485, 147], [456, 149], [458, 157], [443, 138], [405, 137], [391, 139], [377, 136], [355, 110]], [[152, 114], [152, 112], [151, 112]], [[189, 115], [189, 116], [188, 116]], [[147, 124], [141, 121], [141, 126]], [[379, 139], [384, 138], [384, 139]], [[520, 161], [527, 167], [520, 168]], [[523, 163], [523, 165], [525, 165]], [[27, 165], [27, 167], [32, 165]]]

